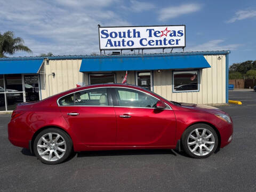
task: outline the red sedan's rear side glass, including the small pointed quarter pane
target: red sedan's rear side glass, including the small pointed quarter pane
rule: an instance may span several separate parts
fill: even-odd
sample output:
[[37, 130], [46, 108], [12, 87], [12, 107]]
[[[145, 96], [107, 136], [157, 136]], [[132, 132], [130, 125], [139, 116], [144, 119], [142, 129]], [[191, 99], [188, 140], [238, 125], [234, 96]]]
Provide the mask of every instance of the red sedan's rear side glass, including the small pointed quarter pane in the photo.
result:
[[108, 106], [107, 88], [79, 91], [59, 100], [60, 106]]

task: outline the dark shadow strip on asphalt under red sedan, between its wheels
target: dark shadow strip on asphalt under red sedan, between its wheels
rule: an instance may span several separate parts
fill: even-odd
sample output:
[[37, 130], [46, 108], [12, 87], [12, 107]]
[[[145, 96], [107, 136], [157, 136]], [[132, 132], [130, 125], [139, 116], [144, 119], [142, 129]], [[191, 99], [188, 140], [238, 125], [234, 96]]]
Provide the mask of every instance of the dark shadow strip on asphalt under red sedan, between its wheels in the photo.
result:
[[77, 153], [77, 157], [164, 155], [164, 154], [177, 156], [177, 154], [175, 154], [172, 149], [135, 149], [135, 150], [82, 151]]

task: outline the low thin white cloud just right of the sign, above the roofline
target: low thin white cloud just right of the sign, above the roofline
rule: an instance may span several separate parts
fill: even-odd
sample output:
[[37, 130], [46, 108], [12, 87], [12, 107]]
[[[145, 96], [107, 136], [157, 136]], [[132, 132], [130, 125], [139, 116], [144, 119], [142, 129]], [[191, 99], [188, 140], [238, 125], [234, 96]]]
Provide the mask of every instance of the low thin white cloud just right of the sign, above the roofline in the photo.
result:
[[237, 47], [242, 46], [241, 44], [223, 44], [225, 40], [214, 39], [209, 42], [187, 47], [186, 51], [205, 51], [205, 50], [235, 50]]

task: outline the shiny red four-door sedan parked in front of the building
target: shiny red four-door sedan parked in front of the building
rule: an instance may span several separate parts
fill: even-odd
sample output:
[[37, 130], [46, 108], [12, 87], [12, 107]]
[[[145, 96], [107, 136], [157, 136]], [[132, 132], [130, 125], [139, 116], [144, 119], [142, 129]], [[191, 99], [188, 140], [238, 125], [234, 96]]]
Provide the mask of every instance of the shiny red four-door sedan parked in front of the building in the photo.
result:
[[182, 149], [209, 157], [232, 140], [224, 111], [168, 101], [139, 86], [78, 87], [38, 102], [20, 103], [8, 124], [9, 140], [46, 164], [72, 151]]

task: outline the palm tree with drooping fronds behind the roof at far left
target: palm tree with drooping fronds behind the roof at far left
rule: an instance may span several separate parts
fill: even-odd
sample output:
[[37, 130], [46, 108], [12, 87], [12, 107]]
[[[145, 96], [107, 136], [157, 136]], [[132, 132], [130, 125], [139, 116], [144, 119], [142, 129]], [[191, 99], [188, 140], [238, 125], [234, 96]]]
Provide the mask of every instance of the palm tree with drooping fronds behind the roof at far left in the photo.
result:
[[3, 35], [0, 33], [0, 58], [5, 57], [4, 54], [14, 54], [17, 51], [25, 51], [31, 53], [32, 51], [25, 45], [20, 37], [13, 38], [12, 31], [6, 31]]

